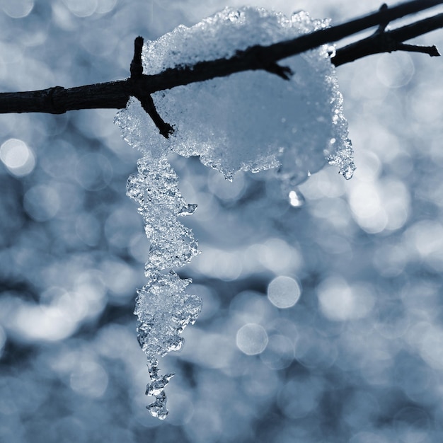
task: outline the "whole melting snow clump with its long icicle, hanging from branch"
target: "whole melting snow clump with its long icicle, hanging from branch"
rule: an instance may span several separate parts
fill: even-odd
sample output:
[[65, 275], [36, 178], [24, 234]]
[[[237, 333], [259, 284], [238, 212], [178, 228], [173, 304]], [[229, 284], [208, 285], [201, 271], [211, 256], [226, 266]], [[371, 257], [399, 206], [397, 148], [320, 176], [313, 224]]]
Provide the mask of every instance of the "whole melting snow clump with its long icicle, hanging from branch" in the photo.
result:
[[[225, 8], [192, 28], [179, 26], [147, 42], [144, 74], [231, 57], [252, 45], [271, 45], [327, 26], [328, 21], [313, 20], [304, 12], [287, 18], [261, 8]], [[246, 71], [154, 93], [156, 109], [174, 127], [168, 139], [134, 98], [116, 116], [123, 137], [143, 153], [138, 173], [128, 180], [127, 195], [139, 204], [151, 241], [148, 281], [138, 291], [135, 313], [151, 376], [146, 393], [156, 398], [148, 409], [156, 417], [166, 418], [163, 388], [172, 376], [159, 375], [157, 356], [180, 348], [180, 333], [200, 312], [200, 299], [185, 292], [189, 281], [173, 271], [198, 250], [192, 232], [177, 219], [192, 214], [195, 205], [180, 195], [168, 155], [198, 155], [227, 179], [239, 170], [275, 168], [287, 190], [326, 163], [351, 178], [352, 146], [332, 52], [333, 47], [323, 46], [282, 60], [294, 72], [290, 81]]]

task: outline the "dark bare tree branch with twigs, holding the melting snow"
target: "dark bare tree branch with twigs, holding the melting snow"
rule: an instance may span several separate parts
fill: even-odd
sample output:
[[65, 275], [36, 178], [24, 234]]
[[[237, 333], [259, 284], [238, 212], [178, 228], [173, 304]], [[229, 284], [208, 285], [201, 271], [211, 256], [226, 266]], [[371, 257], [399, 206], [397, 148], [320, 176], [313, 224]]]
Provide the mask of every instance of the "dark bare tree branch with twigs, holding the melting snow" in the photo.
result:
[[[59, 114], [79, 109], [120, 109], [125, 108], [130, 96], [134, 96], [142, 102], [144, 109], [156, 122], [161, 134], [167, 137], [171, 134], [172, 127], [163, 122], [156, 112], [151, 93], [248, 70], [264, 69], [287, 79], [291, 73], [287, 67], [277, 64], [281, 59], [326, 43], [336, 42], [377, 25], [379, 28], [371, 37], [338, 50], [335, 57], [331, 59], [333, 64], [340, 66], [377, 52], [411, 50], [411, 46], [403, 45], [403, 42], [431, 30], [443, 28], [443, 14], [389, 32], [385, 32], [386, 25], [408, 14], [424, 11], [439, 4], [443, 4], [443, 0], [413, 0], [392, 8], [382, 6], [379, 11], [362, 18], [301, 35], [293, 40], [278, 42], [267, 47], [256, 45], [247, 50], [238, 51], [229, 59], [198, 62], [192, 66], [166, 69], [154, 75], [142, 73], [142, 39], [137, 38], [134, 43], [134, 59], [129, 79], [69, 89], [55, 86], [42, 91], [0, 93], [0, 113]], [[413, 50], [436, 55], [434, 50], [419, 50], [418, 48], [414, 47]]]

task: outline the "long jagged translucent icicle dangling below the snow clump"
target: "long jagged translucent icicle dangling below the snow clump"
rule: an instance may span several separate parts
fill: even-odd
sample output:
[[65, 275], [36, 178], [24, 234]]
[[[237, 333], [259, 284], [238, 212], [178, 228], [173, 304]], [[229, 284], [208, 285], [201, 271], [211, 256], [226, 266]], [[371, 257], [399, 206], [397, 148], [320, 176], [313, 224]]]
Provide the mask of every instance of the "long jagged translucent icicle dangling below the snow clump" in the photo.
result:
[[188, 205], [180, 195], [178, 178], [166, 158], [146, 155], [137, 164], [138, 173], [127, 181], [127, 195], [139, 204], [151, 247], [145, 265], [148, 282], [137, 290], [134, 314], [139, 320], [137, 338], [146, 353], [151, 379], [146, 395], [156, 398], [146, 408], [164, 420], [168, 415], [164, 388], [174, 374], [159, 374], [156, 355], [163, 357], [180, 349], [180, 334], [188, 323], [195, 323], [201, 309], [200, 297], [185, 293], [190, 280], [181, 279], [171, 270], [199, 253], [192, 231], [177, 220], [179, 215], [192, 214], [197, 205]]

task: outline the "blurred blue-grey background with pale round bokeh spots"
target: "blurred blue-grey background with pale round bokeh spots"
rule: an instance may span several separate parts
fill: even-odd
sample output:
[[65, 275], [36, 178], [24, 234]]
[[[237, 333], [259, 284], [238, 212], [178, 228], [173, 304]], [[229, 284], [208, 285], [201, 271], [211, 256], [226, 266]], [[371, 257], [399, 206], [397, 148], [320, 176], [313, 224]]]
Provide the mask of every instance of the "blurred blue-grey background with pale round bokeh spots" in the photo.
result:
[[[333, 23], [379, 8], [1, 0], [0, 90], [125, 78], [137, 35], [244, 4]], [[443, 50], [442, 31], [416, 41]], [[164, 422], [145, 409], [132, 314], [149, 248], [125, 196], [139, 154], [114, 110], [0, 115], [0, 442], [442, 441], [442, 78], [424, 54], [338, 69], [350, 181], [327, 167], [288, 198], [270, 173], [228, 183], [173, 159], [202, 250], [180, 275], [204, 305], [161, 359], [176, 372]]]

